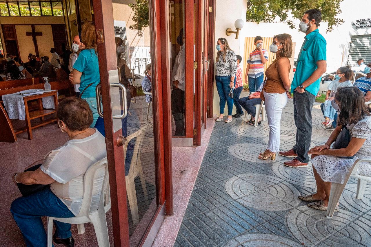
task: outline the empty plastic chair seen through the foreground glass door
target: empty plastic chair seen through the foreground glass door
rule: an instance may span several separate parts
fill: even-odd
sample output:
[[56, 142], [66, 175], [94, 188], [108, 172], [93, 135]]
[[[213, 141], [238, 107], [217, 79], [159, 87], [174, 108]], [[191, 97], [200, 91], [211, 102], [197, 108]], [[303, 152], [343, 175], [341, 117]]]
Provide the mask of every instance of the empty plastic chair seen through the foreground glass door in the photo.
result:
[[137, 138], [137, 140], [135, 141], [135, 145], [134, 145], [133, 156], [131, 158], [129, 173], [127, 176], [125, 176], [126, 193], [128, 195], [131, 218], [133, 220], [134, 226], [136, 226], [139, 223], [137, 193], [135, 190], [135, 182], [134, 182], [134, 179], [137, 176], [139, 176], [139, 179], [142, 184], [145, 201], [148, 201], [147, 186], [145, 184], [144, 173], [142, 170], [142, 163], [141, 163], [141, 158], [140, 158], [140, 150], [142, 146], [141, 144], [143, 142], [143, 137], [144, 137], [143, 130], [135, 131], [133, 134], [131, 134], [130, 136], [126, 138], [125, 145], [123, 146], [124, 147], [124, 158], [126, 160], [126, 152], [127, 152], [129, 141], [132, 140], [133, 138]]

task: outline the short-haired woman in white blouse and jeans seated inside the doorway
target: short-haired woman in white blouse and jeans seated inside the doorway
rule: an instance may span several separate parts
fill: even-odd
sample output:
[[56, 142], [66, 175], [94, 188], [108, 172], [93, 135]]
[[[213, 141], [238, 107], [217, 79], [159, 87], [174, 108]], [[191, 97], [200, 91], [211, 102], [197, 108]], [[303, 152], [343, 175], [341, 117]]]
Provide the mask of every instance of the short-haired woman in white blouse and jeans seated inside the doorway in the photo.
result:
[[[79, 214], [84, 174], [92, 164], [106, 157], [104, 137], [89, 127], [93, 115], [85, 100], [76, 97], [62, 100], [57, 116], [60, 130], [69, 136], [69, 141], [46, 154], [44, 160], [26, 167], [26, 171], [13, 175], [23, 196], [13, 201], [10, 211], [27, 247], [47, 244], [42, 216], [70, 218]], [[100, 196], [101, 190], [95, 192], [93, 196]], [[71, 225], [59, 221], [54, 224], [54, 242], [73, 247]]]

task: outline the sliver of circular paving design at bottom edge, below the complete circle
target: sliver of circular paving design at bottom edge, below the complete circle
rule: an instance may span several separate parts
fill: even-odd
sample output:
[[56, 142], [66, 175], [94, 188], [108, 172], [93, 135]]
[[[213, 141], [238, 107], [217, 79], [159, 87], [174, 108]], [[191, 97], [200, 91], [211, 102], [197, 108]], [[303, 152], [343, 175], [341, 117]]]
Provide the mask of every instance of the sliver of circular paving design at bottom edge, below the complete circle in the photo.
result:
[[244, 234], [230, 240], [224, 247], [266, 246], [266, 247], [300, 247], [301, 244], [282, 236], [264, 233]]

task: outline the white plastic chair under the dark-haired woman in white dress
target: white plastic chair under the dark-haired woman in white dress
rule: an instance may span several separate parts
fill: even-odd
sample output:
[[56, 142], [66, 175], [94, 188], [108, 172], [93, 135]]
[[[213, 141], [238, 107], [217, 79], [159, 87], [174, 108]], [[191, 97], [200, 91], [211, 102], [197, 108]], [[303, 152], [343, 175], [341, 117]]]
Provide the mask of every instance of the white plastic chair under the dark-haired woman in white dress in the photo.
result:
[[356, 160], [352, 168], [349, 170], [347, 177], [345, 177], [344, 184], [338, 184], [338, 183], [331, 184], [330, 198], [328, 201], [328, 207], [327, 207], [327, 213], [326, 213], [327, 218], [332, 218], [332, 216], [334, 215], [336, 204], [338, 204], [341, 194], [343, 193], [343, 190], [345, 186], [347, 185], [350, 176], [358, 178], [356, 197], [357, 199], [362, 199], [363, 194], [366, 189], [367, 182], [371, 183], [371, 177], [357, 174], [357, 169], [358, 169], [359, 163], [361, 162], [371, 162], [371, 158], [359, 158], [358, 160]]

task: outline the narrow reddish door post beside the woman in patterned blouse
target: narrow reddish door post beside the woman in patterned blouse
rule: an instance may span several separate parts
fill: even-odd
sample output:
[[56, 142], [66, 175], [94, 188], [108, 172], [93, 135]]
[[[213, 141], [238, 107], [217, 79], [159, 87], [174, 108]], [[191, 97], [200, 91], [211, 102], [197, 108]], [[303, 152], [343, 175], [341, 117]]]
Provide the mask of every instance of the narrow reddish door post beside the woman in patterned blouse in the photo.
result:
[[213, 113], [213, 100], [214, 100], [214, 52], [215, 52], [215, 46], [214, 46], [214, 41], [215, 41], [215, 3], [216, 0], [209, 0], [209, 5], [212, 9], [212, 11], [209, 13], [209, 40], [211, 41], [209, 43], [209, 52], [208, 56], [210, 59], [210, 64], [209, 64], [209, 77], [207, 79], [207, 117], [208, 118], [213, 118], [214, 113]]

